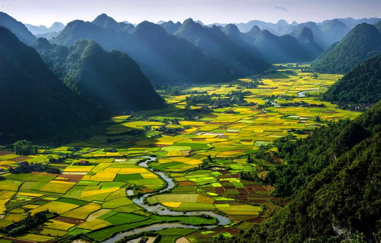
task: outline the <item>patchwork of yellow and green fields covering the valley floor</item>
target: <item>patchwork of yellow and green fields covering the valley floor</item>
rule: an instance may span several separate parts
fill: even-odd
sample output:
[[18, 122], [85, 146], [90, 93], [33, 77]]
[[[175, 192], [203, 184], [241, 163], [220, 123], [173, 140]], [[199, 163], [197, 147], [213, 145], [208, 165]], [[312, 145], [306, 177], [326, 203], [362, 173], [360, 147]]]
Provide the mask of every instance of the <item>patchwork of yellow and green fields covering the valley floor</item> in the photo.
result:
[[[312, 129], [326, 126], [329, 121], [360, 115], [340, 110], [329, 102], [315, 101], [314, 97], [302, 97], [303, 91], [324, 92], [341, 75], [316, 76], [301, 72], [295, 64], [289, 65], [277, 65], [283, 73], [261, 77], [263, 85], [253, 89], [245, 87], [251, 79], [172, 87], [182, 93], [206, 91], [216, 101], [218, 95], [223, 98], [231, 91], [250, 91], [244, 99], [253, 102], [251, 106], [212, 108], [213, 112], [202, 113], [195, 110], [215, 105], [197, 104], [189, 110], [185, 98], [190, 94], [166, 94], [163, 97], [169, 107], [113, 117], [104, 121], [108, 126], [102, 133], [87, 139], [39, 150], [37, 155], [19, 156], [0, 151], [3, 169], [17, 168], [21, 161], [49, 163], [56, 169], [50, 173], [3, 174], [0, 227], [12, 229], [13, 221], [26, 217], [28, 210], [33, 216], [49, 209], [48, 221], [12, 237], [37, 242], [88, 233], [88, 240], [102, 242], [117, 232], [176, 222], [175, 226], [179, 227], [193, 226], [155, 231], [154, 235], [160, 236], [155, 242], [174, 242], [185, 237], [176, 242], [195, 243], [231, 237], [239, 230], [250, 229], [252, 224], [271, 217], [288, 203], [283, 198], [273, 197], [274, 187], [260, 180], [277, 163], [283, 163], [275, 156], [277, 149], [273, 142], [291, 131], [297, 137], [306, 137]], [[296, 74], [288, 75], [284, 71]], [[154, 130], [166, 130], [162, 126], [178, 128], [178, 132], [165, 134]], [[128, 134], [128, 131], [143, 128], [148, 132], [138, 136]], [[301, 129], [304, 131], [297, 132]], [[109, 145], [111, 143], [113, 145]], [[274, 160], [269, 162], [254, 157], [248, 160], [248, 154], [257, 150], [275, 152]], [[80, 157], [73, 159], [65, 154]], [[54, 161], [49, 155], [64, 159]], [[203, 169], [203, 165], [210, 163], [208, 155], [214, 166]], [[147, 162], [147, 167], [142, 163], [147, 159], [144, 156], [157, 157], [157, 160]], [[87, 162], [81, 164], [80, 161]], [[258, 180], [242, 178], [245, 172], [257, 175]], [[174, 188], [154, 194], [170, 187], [171, 181], [168, 184], [163, 177], [172, 178]], [[145, 204], [159, 206], [142, 206], [132, 195], [126, 197], [126, 193], [146, 194]], [[199, 211], [214, 211], [221, 216], [192, 213]], [[218, 218], [220, 223], [227, 220], [226, 225], [217, 226]], [[198, 229], [203, 225], [212, 226]], [[8, 241], [2, 239], [0, 242]]]

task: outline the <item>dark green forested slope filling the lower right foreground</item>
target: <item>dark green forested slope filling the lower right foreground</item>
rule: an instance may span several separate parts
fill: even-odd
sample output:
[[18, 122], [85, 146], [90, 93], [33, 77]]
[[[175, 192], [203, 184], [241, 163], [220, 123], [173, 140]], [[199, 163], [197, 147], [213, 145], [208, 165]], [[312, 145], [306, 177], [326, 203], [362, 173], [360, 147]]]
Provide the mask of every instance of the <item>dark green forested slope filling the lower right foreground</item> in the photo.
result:
[[[378, 102], [352, 121], [315, 129], [303, 139], [275, 141], [285, 164], [266, 179], [275, 186], [275, 195], [292, 195], [292, 201], [250, 230], [219, 241], [372, 242], [373, 233], [381, 230], [380, 114]], [[352, 236], [357, 231], [363, 233], [359, 238]]]

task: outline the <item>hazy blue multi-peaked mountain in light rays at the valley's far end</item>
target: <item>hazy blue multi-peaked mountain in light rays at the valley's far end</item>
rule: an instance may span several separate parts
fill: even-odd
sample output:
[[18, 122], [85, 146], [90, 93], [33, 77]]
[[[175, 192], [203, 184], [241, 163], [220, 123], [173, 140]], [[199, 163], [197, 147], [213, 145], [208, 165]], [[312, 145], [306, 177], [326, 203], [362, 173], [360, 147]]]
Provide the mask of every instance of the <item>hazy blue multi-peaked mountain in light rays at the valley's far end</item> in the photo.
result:
[[241, 34], [241, 38], [258, 48], [264, 57], [273, 63], [305, 62], [314, 59], [291, 35], [276, 36], [268, 30], [260, 30], [258, 26], [254, 26], [246, 34]]

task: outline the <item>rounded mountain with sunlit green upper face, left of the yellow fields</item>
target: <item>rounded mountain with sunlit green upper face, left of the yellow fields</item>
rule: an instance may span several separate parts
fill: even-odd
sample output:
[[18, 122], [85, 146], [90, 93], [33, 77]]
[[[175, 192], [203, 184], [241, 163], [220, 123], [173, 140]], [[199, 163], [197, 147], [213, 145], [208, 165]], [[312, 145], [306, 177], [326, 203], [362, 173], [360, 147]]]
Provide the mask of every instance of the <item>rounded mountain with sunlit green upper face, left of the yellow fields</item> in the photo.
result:
[[84, 39], [66, 47], [38, 38], [30, 46], [69, 88], [109, 111], [165, 106], [138, 64], [124, 52], [107, 52], [98, 43]]

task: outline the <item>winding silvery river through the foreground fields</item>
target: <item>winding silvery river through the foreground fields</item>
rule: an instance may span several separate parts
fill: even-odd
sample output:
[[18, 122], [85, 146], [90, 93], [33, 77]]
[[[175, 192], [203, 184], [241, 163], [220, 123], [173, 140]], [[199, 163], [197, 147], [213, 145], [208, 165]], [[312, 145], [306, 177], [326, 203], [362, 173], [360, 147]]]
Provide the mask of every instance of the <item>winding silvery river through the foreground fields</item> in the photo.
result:
[[[144, 162], [139, 163], [139, 166], [145, 167], [145, 168], [152, 171], [152, 169], [148, 168], [147, 162], [155, 161], [156, 157], [142, 156], [142, 158], [148, 158], [149, 160], [146, 160]], [[168, 182], [168, 187], [166, 187], [163, 190], [160, 190], [160, 192], [165, 192], [166, 190], [172, 189], [174, 187], [174, 183], [170, 177], [166, 176], [163, 172], [160, 172], [160, 171], [155, 171], [155, 173], [160, 175], [166, 182]], [[127, 192], [127, 193], [129, 193], [129, 192]], [[213, 213], [212, 211], [186, 212], [184, 214], [184, 212], [170, 211], [168, 208], [165, 208], [161, 205], [149, 206], [149, 205], [143, 204], [143, 198], [149, 197], [152, 194], [153, 193], [144, 194], [143, 197], [135, 198], [132, 201], [134, 203], [136, 203], [137, 205], [141, 206], [142, 208], [147, 209], [147, 211], [154, 212], [154, 213], [157, 213], [159, 215], [200, 215], [200, 214], [207, 214], [207, 215], [210, 215], [210, 216], [217, 218], [219, 221], [219, 224], [221, 224], [221, 225], [226, 225], [226, 224], [229, 224], [229, 222], [230, 222], [229, 218], [218, 215], [216, 213]], [[210, 229], [210, 228], [213, 228], [215, 226], [216, 225], [207, 225], [204, 227]], [[150, 225], [147, 227], [137, 228], [134, 230], [130, 230], [128, 232], [119, 233], [119, 234], [115, 235], [114, 237], [112, 237], [111, 239], [103, 241], [103, 243], [114, 243], [115, 241], [117, 241], [117, 240], [119, 240], [125, 236], [133, 235], [133, 234], [148, 231], [148, 230], [161, 230], [164, 228], [176, 228], [176, 227], [191, 228], [191, 229], [198, 229], [199, 228], [199, 227], [193, 226], [193, 225], [184, 225], [184, 224], [178, 224], [178, 223], [153, 224], [153, 225]]]

